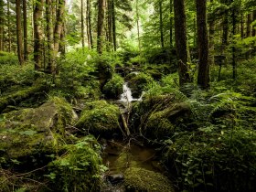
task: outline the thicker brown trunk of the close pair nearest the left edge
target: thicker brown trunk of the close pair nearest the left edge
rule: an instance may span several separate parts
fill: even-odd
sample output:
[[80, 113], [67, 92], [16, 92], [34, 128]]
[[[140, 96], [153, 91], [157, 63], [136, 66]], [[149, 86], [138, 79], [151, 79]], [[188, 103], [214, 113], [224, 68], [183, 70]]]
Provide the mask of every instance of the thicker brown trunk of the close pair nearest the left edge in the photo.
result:
[[17, 40], [17, 56], [19, 64], [24, 64], [23, 44], [22, 44], [22, 27], [21, 27], [21, 7], [20, 0], [16, 0], [16, 40]]

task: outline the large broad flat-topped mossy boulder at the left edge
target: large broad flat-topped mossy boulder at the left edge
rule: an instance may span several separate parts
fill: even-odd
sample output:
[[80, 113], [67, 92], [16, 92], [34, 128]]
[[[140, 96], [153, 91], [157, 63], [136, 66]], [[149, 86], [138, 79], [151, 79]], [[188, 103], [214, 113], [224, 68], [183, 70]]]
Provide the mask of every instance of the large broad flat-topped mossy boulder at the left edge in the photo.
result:
[[24, 158], [42, 158], [44, 154], [56, 152], [58, 138], [63, 139], [66, 125], [74, 122], [75, 118], [75, 112], [69, 103], [60, 98], [52, 98], [35, 109], [2, 114], [0, 117], [2, 163], [8, 163], [13, 159], [27, 163], [28, 160]]

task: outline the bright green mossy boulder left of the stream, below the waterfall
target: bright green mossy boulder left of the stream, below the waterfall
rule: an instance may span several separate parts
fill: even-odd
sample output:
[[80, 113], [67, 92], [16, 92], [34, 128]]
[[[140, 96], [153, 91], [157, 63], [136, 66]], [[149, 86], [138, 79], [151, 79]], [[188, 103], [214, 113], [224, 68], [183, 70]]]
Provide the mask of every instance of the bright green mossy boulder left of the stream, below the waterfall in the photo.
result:
[[120, 133], [120, 110], [107, 101], [91, 101], [86, 103], [76, 127], [86, 133], [110, 137]]

